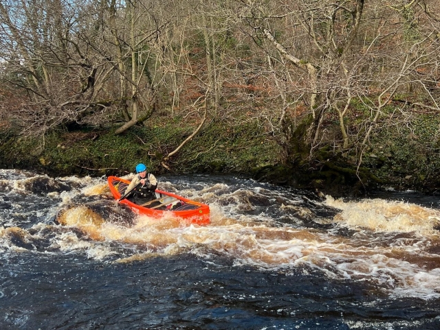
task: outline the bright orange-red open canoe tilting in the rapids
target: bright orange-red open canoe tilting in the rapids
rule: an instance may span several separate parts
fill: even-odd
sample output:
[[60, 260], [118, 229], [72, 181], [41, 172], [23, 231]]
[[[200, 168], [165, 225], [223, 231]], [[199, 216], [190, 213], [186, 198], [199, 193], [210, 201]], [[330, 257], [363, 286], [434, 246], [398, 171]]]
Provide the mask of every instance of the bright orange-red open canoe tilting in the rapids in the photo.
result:
[[[129, 180], [109, 176], [107, 179], [109, 188], [115, 200], [118, 200], [130, 184]], [[206, 204], [188, 200], [174, 193], [156, 189], [157, 199], [146, 203], [145, 206], [134, 204], [127, 199], [121, 200], [121, 204], [126, 204], [137, 213], [148, 215], [149, 217], [179, 217], [192, 224], [209, 224], [209, 207]]]

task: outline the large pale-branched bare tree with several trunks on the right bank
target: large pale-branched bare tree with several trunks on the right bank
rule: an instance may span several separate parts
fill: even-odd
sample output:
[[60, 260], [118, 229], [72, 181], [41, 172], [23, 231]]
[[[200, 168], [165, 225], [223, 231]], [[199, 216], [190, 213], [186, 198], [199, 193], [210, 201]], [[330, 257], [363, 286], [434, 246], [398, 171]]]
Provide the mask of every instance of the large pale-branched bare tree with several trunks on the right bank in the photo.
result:
[[[415, 16], [423, 14], [429, 19], [421, 21], [437, 26], [433, 3], [368, 4], [366, 7], [363, 0], [243, 1], [236, 11], [248, 24], [248, 30], [243, 30], [270, 54], [267, 72], [272, 72], [272, 95], [277, 91], [279, 100], [274, 105], [279, 106], [283, 121], [292, 123], [296, 115], [287, 111], [289, 105], [300, 104], [309, 109], [309, 130], [302, 138], [310, 143], [311, 152], [319, 147], [320, 141], [328, 141], [322, 124], [333, 113], [340, 126], [340, 137], [333, 138], [340, 140], [338, 150], [347, 152], [355, 150], [352, 147], [358, 143], [365, 145], [383, 108], [396, 93], [401, 93], [408, 83], [421, 84], [421, 71], [438, 67], [434, 63], [438, 54], [435, 34], [421, 32], [423, 29], [415, 24]], [[423, 8], [423, 12], [415, 14], [415, 8]], [[412, 39], [408, 39], [409, 32]], [[267, 43], [263, 43], [264, 39]], [[426, 83], [421, 85], [434, 102], [430, 108], [437, 108], [432, 91], [428, 91]], [[373, 114], [354, 132], [355, 127], [347, 126], [346, 122], [353, 99], [369, 100], [366, 103]], [[291, 139], [292, 125], [281, 127], [287, 139]], [[291, 146], [292, 143], [297, 141], [291, 140]]]

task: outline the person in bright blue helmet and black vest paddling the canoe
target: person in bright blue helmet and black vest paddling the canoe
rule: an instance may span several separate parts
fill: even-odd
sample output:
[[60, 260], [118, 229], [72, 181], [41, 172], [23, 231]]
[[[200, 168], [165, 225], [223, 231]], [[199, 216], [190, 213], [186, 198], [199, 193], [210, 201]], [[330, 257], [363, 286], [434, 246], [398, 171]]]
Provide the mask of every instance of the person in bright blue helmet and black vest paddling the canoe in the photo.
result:
[[136, 173], [126, 188], [125, 193], [129, 193], [127, 198], [131, 202], [142, 205], [150, 200], [155, 200], [155, 190], [157, 188], [157, 179], [153, 174], [146, 173], [146, 166], [142, 163], [136, 165]]

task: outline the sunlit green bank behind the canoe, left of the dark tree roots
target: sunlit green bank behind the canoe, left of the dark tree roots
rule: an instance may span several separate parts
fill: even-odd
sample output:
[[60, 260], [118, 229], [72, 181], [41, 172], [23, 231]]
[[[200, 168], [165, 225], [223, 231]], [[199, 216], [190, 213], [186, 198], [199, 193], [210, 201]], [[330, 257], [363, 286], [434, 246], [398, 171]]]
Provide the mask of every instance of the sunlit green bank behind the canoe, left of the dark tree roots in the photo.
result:
[[[168, 123], [151, 121], [135, 126], [124, 134], [114, 130], [80, 130], [52, 133], [45, 139], [19, 139], [3, 136], [1, 167], [36, 169], [54, 175], [110, 175], [132, 172], [135, 165], [146, 163], [161, 174], [164, 156], [192, 134], [195, 126], [182, 126], [178, 120]], [[257, 123], [224, 128], [210, 123], [188, 141], [168, 162], [179, 172], [232, 172], [251, 174], [276, 165], [281, 149]]]

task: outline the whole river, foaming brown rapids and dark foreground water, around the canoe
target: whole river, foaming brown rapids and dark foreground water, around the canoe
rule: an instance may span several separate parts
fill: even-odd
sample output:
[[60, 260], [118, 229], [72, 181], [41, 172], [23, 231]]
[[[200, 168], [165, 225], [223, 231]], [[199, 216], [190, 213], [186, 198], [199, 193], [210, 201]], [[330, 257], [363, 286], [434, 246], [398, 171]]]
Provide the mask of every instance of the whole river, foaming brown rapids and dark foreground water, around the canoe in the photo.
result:
[[440, 329], [438, 199], [159, 180], [211, 224], [138, 217], [104, 178], [0, 170], [0, 329]]

